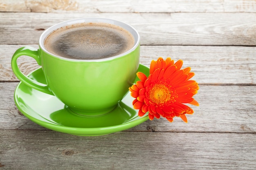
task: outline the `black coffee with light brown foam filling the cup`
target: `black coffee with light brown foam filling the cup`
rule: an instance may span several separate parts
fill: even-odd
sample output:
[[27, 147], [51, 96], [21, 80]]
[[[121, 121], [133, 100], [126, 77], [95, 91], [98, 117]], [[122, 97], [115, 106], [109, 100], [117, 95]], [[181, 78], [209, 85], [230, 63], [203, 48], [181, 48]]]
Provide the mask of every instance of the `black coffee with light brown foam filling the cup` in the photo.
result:
[[135, 40], [125, 29], [106, 23], [79, 23], [52, 32], [45, 40], [47, 51], [55, 55], [92, 60], [122, 54]]

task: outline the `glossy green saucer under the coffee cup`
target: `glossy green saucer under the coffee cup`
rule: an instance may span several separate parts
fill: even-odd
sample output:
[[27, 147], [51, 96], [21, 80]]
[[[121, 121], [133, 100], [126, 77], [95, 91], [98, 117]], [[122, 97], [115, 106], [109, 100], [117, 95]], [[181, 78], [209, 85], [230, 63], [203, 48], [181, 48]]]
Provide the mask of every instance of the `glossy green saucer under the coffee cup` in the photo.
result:
[[[139, 65], [138, 71], [149, 74], [149, 68]], [[29, 74], [31, 79], [46, 84], [41, 68]], [[136, 78], [135, 82], [138, 80]], [[132, 106], [130, 92], [114, 110], [106, 115], [88, 117], [70, 113], [65, 104], [55, 96], [42, 93], [20, 82], [14, 101], [20, 112], [31, 121], [45, 128], [79, 136], [98, 136], [119, 132], [137, 126], [148, 119], [138, 116]]]

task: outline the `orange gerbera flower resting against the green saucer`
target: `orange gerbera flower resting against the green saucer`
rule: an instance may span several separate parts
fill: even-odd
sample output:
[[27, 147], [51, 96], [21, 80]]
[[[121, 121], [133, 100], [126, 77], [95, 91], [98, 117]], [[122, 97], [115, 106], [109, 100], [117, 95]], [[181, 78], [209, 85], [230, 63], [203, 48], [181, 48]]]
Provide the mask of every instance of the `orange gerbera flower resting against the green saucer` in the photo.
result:
[[152, 60], [148, 77], [144, 73], [137, 73], [141, 81], [137, 81], [129, 90], [135, 98], [132, 104], [139, 109], [139, 116], [148, 112], [150, 120], [162, 116], [170, 122], [177, 116], [187, 123], [185, 114], [193, 114], [194, 111], [185, 104], [199, 106], [193, 99], [199, 86], [194, 80], [189, 80], [194, 76], [191, 68], [181, 70], [182, 64], [182, 60], [174, 63], [170, 57], [166, 60], [159, 57], [157, 61]]

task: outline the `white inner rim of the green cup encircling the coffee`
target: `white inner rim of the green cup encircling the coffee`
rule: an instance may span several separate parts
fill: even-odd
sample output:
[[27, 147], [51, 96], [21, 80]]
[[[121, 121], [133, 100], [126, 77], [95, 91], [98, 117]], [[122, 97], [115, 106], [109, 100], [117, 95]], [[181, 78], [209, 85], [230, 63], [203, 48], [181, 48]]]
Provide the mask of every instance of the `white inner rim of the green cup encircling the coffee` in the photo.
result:
[[[53, 53], [50, 53], [49, 51], [47, 51], [47, 49], [45, 49], [45, 46], [44, 46], [45, 39], [48, 37], [48, 35], [50, 33], [55, 31], [56, 29], [59, 29], [59, 28], [64, 27], [64, 26], [69, 26], [69, 25], [72, 25], [72, 24], [89, 23], [89, 22], [107, 23], [107, 24], [113, 24], [113, 25], [120, 26], [123, 29], [126, 29], [126, 31], [130, 32], [133, 35], [133, 37], [135, 39], [135, 44], [132, 46], [131, 49], [129, 49], [128, 51], [126, 51], [124, 53], [121, 53], [119, 55], [115, 55], [115, 56], [107, 57], [107, 58], [102, 58], [102, 59], [91, 59], [91, 60], [89, 60], [89, 59], [85, 59], [85, 60], [84, 59], [71, 59], [71, 58], [61, 57], [59, 55], [55, 55]], [[49, 55], [52, 55], [52, 56], [57, 57], [57, 58], [62, 59], [62, 60], [78, 61], [78, 62], [81, 62], [81, 61], [83, 61], [83, 62], [102, 62], [102, 61], [113, 60], [115, 58], [119, 58], [119, 57], [122, 57], [124, 55], [127, 55], [127, 54], [131, 53], [132, 51], [135, 51], [135, 49], [137, 49], [137, 46], [140, 45], [140, 36], [139, 36], [138, 31], [135, 28], [133, 28], [130, 24], [127, 24], [127, 23], [119, 21], [119, 20], [114, 20], [114, 19], [110, 19], [110, 18], [98, 18], [98, 17], [76, 18], [76, 19], [73, 19], [73, 20], [67, 20], [67, 21], [64, 21], [64, 22], [60, 22], [60, 23], [55, 24], [55, 25], [49, 27], [48, 29], [46, 29], [40, 35], [38, 45], [39, 45], [39, 48], [41, 50], [43, 50], [45, 53], [48, 53]]]

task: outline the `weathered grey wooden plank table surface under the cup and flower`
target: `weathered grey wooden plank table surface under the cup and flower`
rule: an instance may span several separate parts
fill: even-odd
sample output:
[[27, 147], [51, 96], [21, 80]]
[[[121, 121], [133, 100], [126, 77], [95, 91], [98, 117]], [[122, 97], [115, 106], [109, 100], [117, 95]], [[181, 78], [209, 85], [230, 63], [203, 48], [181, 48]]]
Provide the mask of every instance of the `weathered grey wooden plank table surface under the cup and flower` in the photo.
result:
[[[171, 57], [191, 66], [199, 107], [99, 137], [43, 128], [17, 109], [11, 57], [38, 47], [43, 30], [74, 18], [131, 24], [141, 35], [141, 64]], [[20, 57], [28, 74], [38, 68]], [[255, 170], [256, 1], [0, 0], [0, 170]]]

